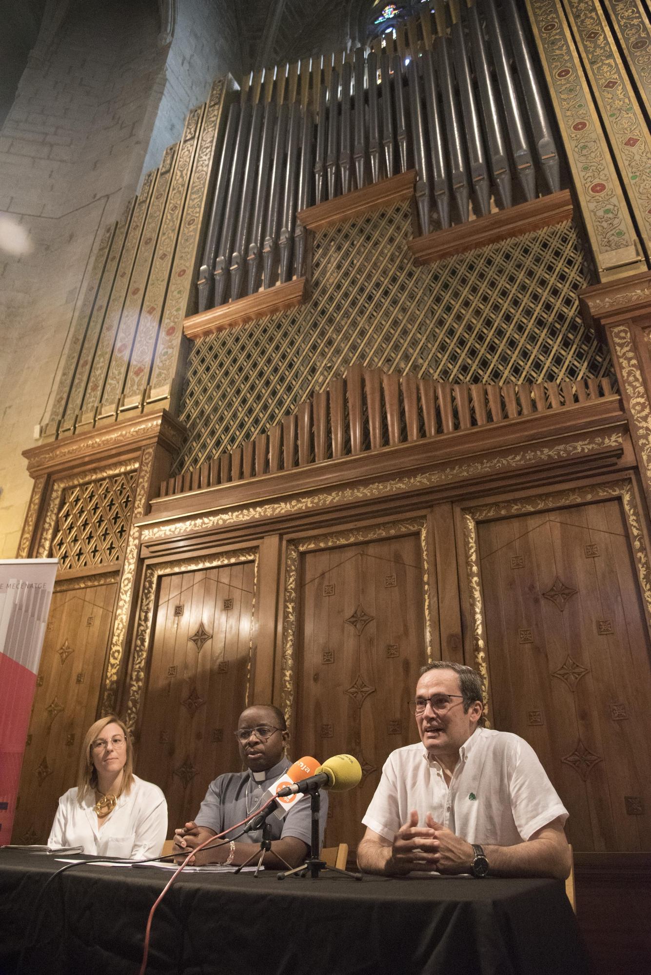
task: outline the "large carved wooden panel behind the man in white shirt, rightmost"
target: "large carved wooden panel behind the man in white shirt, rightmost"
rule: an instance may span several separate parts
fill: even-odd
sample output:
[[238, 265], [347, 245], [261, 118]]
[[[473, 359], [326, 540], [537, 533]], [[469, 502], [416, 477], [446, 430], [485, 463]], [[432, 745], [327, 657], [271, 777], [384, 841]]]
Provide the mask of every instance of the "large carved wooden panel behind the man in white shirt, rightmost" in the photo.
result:
[[624, 814], [651, 800], [651, 669], [620, 500], [478, 528], [494, 726], [536, 750], [576, 850], [651, 849], [651, 818]]

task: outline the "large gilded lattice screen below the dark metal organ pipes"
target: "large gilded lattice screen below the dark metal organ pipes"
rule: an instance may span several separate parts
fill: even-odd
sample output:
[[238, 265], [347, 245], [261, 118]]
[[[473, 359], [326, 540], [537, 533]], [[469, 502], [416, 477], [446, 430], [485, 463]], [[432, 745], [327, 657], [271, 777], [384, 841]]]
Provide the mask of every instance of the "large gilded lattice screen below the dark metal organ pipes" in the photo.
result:
[[416, 267], [410, 218], [402, 203], [325, 228], [308, 304], [193, 345], [177, 470], [266, 430], [353, 362], [448, 382], [608, 373], [579, 316], [589, 282], [571, 223]]

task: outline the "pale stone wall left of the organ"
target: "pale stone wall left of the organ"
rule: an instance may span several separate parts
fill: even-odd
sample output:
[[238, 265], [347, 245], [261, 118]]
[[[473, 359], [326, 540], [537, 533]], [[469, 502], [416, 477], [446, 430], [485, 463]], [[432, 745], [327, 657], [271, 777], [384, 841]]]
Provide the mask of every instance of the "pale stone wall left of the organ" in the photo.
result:
[[21, 451], [48, 419], [101, 229], [212, 78], [239, 71], [224, 6], [183, 0], [171, 44], [155, 0], [48, 6], [0, 130], [0, 558], [16, 555]]

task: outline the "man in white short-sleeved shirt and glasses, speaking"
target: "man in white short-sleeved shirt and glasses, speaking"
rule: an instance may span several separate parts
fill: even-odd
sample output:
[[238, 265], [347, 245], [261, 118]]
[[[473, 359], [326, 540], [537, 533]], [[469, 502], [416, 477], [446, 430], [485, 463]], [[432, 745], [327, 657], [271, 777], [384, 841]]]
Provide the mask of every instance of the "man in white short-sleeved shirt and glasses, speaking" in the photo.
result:
[[392, 752], [366, 810], [358, 864], [368, 873], [566, 878], [567, 810], [533, 749], [480, 727], [471, 667], [424, 667], [413, 702], [422, 744]]

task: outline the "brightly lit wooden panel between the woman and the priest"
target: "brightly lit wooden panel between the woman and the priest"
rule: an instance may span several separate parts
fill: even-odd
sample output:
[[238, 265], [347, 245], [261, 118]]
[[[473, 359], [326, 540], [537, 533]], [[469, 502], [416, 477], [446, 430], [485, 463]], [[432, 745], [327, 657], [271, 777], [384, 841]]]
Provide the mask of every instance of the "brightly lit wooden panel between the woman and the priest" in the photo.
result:
[[233, 731], [249, 685], [253, 578], [246, 563], [160, 579], [135, 770], [164, 791], [170, 835], [216, 775], [241, 766]]

